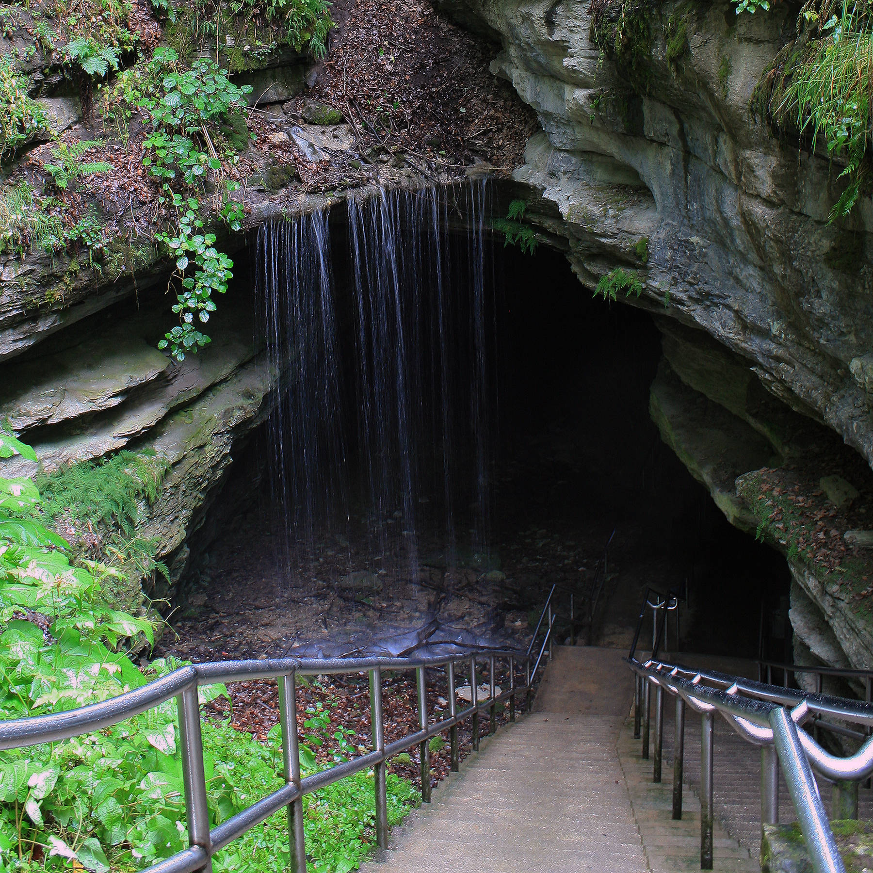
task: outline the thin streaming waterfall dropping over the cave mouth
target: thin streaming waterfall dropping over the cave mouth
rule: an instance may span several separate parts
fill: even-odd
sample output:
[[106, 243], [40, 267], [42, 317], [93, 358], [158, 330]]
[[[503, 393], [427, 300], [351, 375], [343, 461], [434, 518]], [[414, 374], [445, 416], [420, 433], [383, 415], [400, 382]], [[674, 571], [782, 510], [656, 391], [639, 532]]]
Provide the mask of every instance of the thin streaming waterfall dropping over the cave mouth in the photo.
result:
[[[345, 214], [342, 214], [343, 211]], [[498, 303], [485, 182], [385, 192], [258, 233], [260, 322], [280, 560], [324, 535], [371, 569], [485, 560]], [[463, 519], [463, 527], [460, 526]]]

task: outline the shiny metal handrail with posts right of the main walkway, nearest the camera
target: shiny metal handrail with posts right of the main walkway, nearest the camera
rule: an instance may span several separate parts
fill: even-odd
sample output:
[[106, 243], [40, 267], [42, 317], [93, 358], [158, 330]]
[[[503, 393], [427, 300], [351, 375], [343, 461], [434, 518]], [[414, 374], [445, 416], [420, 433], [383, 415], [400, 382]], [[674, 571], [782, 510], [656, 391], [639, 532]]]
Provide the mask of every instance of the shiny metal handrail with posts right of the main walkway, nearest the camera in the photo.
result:
[[701, 870], [712, 869], [712, 727], [718, 712], [743, 739], [761, 747], [762, 825], [779, 821], [781, 766], [816, 873], [844, 873], [813, 770], [834, 781], [839, 817], [857, 818], [858, 783], [873, 773], [873, 738], [867, 739], [856, 753], [838, 758], [798, 728], [821, 716], [873, 725], [873, 705], [652, 659], [642, 663], [629, 657], [627, 663], [635, 673], [635, 725], [639, 724], [641, 710], [645, 719], [643, 758], [649, 757], [650, 692], [655, 689], [653, 781], [656, 782], [661, 781], [662, 775], [663, 692], [676, 698], [674, 819], [682, 817], [685, 706], [701, 715]]

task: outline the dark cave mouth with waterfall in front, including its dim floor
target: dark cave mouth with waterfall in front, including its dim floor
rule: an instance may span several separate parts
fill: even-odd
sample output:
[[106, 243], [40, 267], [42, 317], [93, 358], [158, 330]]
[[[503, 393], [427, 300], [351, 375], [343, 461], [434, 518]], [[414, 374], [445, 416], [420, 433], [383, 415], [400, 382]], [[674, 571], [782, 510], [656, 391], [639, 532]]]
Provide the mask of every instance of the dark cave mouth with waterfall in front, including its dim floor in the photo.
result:
[[559, 251], [503, 246], [488, 190], [464, 196], [340, 207], [251, 246], [278, 405], [191, 539], [182, 639], [278, 656], [436, 626], [524, 636], [551, 584], [590, 585], [612, 537], [583, 642], [628, 645], [653, 586], [685, 597], [671, 650], [756, 656], [787, 568], [662, 443], [654, 320], [593, 299]]

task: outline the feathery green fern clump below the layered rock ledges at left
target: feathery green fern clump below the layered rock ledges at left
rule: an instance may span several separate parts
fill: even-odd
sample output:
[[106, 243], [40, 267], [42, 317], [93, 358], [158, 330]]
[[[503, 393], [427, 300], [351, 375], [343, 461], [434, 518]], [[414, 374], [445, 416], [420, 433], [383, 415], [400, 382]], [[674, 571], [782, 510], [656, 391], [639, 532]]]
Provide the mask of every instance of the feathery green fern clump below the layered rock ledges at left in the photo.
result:
[[117, 525], [132, 536], [140, 502], [155, 502], [168, 469], [154, 451], [124, 450], [73, 464], [38, 479], [43, 510], [52, 518], [67, 512], [92, 525]]

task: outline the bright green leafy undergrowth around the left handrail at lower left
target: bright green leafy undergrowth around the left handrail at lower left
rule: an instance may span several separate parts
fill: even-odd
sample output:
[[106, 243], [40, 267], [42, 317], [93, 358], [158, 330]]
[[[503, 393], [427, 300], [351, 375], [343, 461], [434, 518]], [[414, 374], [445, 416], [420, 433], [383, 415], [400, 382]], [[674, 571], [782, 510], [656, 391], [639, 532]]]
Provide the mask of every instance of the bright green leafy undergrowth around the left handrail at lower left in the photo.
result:
[[[0, 457], [36, 461], [30, 446], [0, 430]], [[182, 663], [152, 662], [146, 675], [123, 645], [153, 640], [148, 619], [122, 612], [107, 598], [114, 567], [74, 563], [67, 542], [43, 523], [46, 514], [93, 500], [95, 518], [131, 519], [133, 492], [120, 478], [139, 481], [141, 497], [157, 487], [153, 460], [127, 453], [114, 464], [92, 465], [41, 480], [0, 478], [0, 719], [65, 711], [140, 687]], [[142, 464], [146, 464], [143, 468]], [[96, 481], [104, 482], [97, 488]], [[106, 482], [115, 483], [107, 487]], [[108, 491], [115, 497], [106, 499]], [[53, 501], [53, 502], [52, 502]], [[42, 509], [40, 507], [42, 506]], [[226, 696], [223, 685], [198, 689], [202, 705]], [[325, 707], [313, 708], [313, 739], [332, 732], [339, 749], [352, 732]], [[272, 732], [275, 734], [275, 732]], [[100, 732], [3, 753], [0, 759], [0, 870], [136, 870], [188, 845], [179, 725], [172, 702]], [[346, 745], [343, 746], [343, 743]], [[203, 720], [203, 761], [210, 826], [284, 784], [278, 743], [261, 744], [230, 726]], [[305, 774], [318, 769], [301, 747]], [[417, 802], [408, 781], [388, 775], [388, 822]], [[373, 849], [373, 773], [357, 773], [304, 799], [304, 827], [313, 869], [353, 870]], [[277, 814], [230, 844], [213, 862], [231, 870], [280, 873], [289, 863], [287, 820]]]

